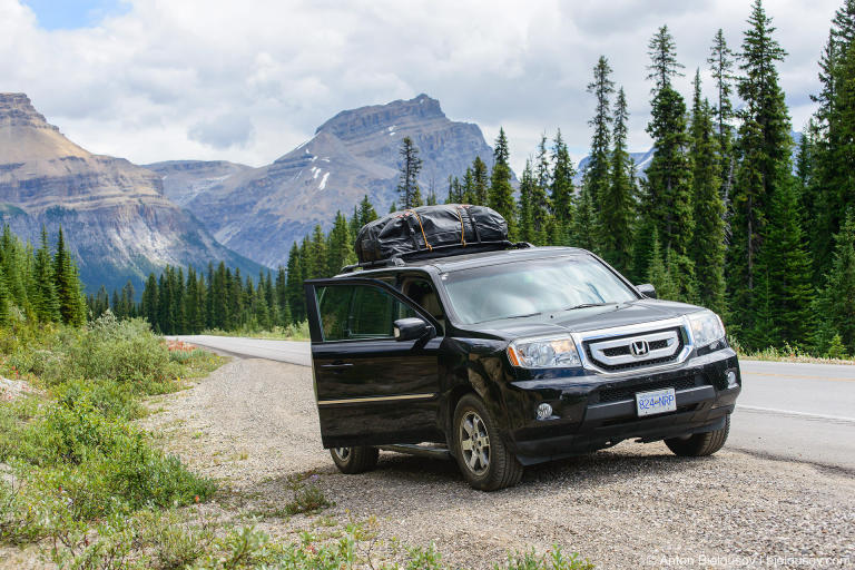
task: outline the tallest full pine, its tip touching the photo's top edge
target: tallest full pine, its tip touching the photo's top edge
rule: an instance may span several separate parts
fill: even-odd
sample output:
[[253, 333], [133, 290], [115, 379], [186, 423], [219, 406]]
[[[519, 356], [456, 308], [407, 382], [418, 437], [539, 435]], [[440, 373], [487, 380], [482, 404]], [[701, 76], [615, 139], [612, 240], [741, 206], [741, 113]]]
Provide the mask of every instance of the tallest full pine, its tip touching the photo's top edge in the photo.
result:
[[[783, 196], [784, 185], [790, 184], [789, 118], [784, 92], [778, 86], [776, 63], [786, 52], [772, 37], [775, 28], [763, 4], [755, 0], [748, 19], [749, 28], [743, 39], [737, 82], [745, 107], [739, 114], [739, 165], [730, 196], [730, 247], [728, 248], [728, 294], [735, 315], [736, 331], [757, 331], [761, 324], [755, 317], [766, 311], [772, 283], [755, 292], [755, 278], [760, 272], [769, 278], [772, 267], [759, 267], [764, 236], [768, 233], [772, 196]], [[773, 263], [766, 255], [765, 259]], [[755, 295], [757, 293], [758, 295]], [[772, 295], [772, 293], [769, 293]]]

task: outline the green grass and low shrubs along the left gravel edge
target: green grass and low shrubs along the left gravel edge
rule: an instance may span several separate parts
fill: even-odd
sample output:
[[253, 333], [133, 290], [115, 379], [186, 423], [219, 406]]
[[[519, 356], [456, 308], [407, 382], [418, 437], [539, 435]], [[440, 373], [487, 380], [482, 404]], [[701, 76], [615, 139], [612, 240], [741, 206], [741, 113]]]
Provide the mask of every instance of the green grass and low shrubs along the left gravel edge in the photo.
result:
[[[333, 503], [314, 472], [288, 478], [291, 500], [257, 513], [315, 517], [297, 541], [198, 514], [215, 482], [163, 452], [160, 434], [132, 420], [145, 414], [144, 399], [223, 362], [110, 314], [85, 328], [20, 321], [0, 328], [0, 374], [36, 389], [0, 401], [0, 546], [37, 544], [60, 568], [91, 570], [448, 568], [433, 544], [400, 549], [395, 539], [386, 552], [400, 562], [379, 559], [376, 521], [340, 525], [323, 515]], [[495, 568], [592, 567], [553, 549], [513, 553]]]

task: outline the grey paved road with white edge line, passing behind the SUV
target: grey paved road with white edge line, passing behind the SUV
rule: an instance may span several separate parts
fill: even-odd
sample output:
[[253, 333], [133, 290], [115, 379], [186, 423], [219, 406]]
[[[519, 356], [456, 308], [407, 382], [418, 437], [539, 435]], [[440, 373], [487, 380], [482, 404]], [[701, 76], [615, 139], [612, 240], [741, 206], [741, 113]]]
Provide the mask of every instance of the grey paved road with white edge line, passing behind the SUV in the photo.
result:
[[[306, 342], [179, 338], [239, 356], [311, 365]], [[729, 448], [855, 473], [855, 366], [743, 361], [741, 371]]]

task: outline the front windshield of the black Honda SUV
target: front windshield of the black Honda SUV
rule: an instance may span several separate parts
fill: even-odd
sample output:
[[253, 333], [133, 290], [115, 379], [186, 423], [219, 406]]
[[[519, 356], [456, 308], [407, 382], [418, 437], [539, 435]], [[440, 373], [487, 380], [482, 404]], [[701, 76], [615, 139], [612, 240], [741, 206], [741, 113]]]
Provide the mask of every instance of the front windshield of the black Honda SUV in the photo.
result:
[[638, 298], [588, 255], [462, 269], [444, 275], [443, 283], [461, 324], [470, 325]]

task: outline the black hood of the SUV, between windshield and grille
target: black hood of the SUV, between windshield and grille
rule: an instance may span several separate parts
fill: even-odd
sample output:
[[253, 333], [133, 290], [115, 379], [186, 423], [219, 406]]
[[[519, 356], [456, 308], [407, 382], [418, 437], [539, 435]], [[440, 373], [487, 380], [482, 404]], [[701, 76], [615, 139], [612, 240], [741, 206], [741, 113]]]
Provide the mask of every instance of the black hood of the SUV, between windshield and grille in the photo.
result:
[[620, 305], [586, 307], [559, 313], [543, 313], [525, 318], [492, 321], [481, 323], [478, 330], [498, 337], [513, 340], [524, 336], [584, 333], [599, 328], [637, 325], [675, 318], [697, 311], [702, 311], [702, 307], [671, 301], [640, 299]]

